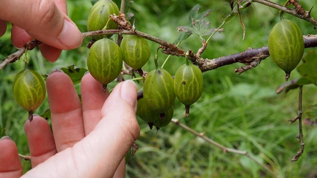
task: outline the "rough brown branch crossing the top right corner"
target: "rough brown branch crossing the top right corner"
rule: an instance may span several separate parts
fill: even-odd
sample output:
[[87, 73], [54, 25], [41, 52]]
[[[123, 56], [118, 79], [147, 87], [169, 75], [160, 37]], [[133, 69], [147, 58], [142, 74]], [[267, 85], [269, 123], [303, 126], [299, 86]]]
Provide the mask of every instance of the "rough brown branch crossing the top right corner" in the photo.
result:
[[[291, 8], [279, 5], [277, 3], [274, 3], [274, 2], [271, 2], [271, 1], [268, 1], [268, 0], [253, 0], [253, 1], [261, 3], [261, 4], [264, 4], [264, 5], [269, 6], [269, 7], [273, 7], [275, 9], [277, 9], [277, 10], [286, 12], [288, 14], [294, 15], [294, 16], [296, 16], [298, 18], [306, 20], [307, 22], [310, 22], [311, 24], [314, 24], [315, 26], [317, 26], [317, 19], [315, 19], [315, 18], [313, 18], [311, 16], [311, 10], [312, 9], [310, 9], [309, 11], [305, 11], [304, 10], [304, 12], [303, 12], [302, 10], [299, 10], [297, 8], [291, 9]], [[299, 10], [299, 12], [297, 10]]]

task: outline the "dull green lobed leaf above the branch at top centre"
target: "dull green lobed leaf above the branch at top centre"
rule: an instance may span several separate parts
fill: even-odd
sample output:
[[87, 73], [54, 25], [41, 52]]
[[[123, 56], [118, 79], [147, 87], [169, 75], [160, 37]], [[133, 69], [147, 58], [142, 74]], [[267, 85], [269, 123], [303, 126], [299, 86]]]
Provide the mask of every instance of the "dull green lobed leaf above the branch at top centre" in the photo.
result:
[[[203, 19], [204, 17], [206, 17], [207, 15], [210, 14], [211, 9], [205, 10], [202, 13], [199, 13], [199, 9], [200, 9], [200, 5], [196, 4], [190, 11], [189, 16], [188, 16], [188, 20], [189, 20], [189, 25], [188, 26], [180, 26], [178, 27], [178, 31], [182, 31], [178, 38], [176, 39], [176, 41], [174, 42], [174, 44], [177, 44], [183, 40], [186, 40], [190, 35], [192, 35], [192, 33], [196, 33], [196, 34], [202, 34], [202, 32], [195, 28], [193, 26], [193, 24], [197, 24], [197, 23], [206, 23], [206, 21], [204, 22], [199, 22], [201, 19]], [[209, 22], [207, 22], [209, 23]], [[201, 24], [199, 24], [201, 25]], [[206, 25], [206, 24], [205, 24]], [[209, 27], [209, 24], [208, 24]]]

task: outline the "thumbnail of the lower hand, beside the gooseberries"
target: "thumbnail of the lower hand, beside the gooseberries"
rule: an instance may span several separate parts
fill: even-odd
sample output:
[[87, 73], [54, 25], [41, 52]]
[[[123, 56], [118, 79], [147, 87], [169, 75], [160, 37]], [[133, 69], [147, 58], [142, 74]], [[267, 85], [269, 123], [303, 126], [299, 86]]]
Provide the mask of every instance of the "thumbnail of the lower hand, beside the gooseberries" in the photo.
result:
[[131, 90], [136, 90], [136, 84], [132, 80], [127, 80], [121, 87], [121, 98], [135, 106], [136, 93], [132, 93]]

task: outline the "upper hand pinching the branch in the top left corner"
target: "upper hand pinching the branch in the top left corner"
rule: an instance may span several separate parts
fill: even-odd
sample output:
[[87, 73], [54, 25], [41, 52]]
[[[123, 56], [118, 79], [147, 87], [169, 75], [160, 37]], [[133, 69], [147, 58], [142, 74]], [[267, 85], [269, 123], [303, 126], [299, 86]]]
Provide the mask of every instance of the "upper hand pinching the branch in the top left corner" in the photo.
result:
[[74, 49], [83, 38], [67, 16], [66, 0], [0, 0], [0, 37], [6, 22], [13, 24], [11, 42], [17, 48], [34, 38], [41, 41], [42, 55], [57, 60], [61, 49]]

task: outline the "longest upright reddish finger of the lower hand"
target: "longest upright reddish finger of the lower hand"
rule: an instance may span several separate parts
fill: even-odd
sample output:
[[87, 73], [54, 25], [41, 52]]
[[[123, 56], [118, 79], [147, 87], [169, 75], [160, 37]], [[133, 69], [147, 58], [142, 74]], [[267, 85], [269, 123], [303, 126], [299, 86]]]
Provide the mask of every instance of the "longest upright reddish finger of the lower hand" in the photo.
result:
[[71, 79], [61, 71], [46, 80], [57, 152], [73, 146], [85, 136], [81, 103]]

